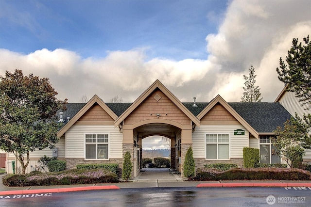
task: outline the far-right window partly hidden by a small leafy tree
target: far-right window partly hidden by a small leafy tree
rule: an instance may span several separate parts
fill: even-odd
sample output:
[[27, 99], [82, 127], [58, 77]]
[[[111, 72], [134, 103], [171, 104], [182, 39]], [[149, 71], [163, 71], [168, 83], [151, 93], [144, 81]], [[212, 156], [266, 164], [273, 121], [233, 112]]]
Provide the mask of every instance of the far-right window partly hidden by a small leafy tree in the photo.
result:
[[276, 155], [276, 147], [270, 142], [270, 136], [260, 136], [260, 163], [275, 164], [281, 163], [281, 158]]

